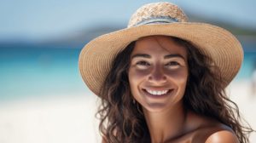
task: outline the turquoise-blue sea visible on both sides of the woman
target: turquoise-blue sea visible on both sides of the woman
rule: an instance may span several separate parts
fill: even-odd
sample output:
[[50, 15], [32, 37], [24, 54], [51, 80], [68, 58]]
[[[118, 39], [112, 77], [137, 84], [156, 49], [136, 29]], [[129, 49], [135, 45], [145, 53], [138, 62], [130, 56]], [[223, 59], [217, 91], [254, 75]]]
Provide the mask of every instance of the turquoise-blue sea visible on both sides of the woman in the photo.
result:
[[[0, 100], [86, 93], [79, 75], [81, 49], [13, 46], [0, 48]], [[235, 80], [250, 79], [256, 51], [245, 51]]]

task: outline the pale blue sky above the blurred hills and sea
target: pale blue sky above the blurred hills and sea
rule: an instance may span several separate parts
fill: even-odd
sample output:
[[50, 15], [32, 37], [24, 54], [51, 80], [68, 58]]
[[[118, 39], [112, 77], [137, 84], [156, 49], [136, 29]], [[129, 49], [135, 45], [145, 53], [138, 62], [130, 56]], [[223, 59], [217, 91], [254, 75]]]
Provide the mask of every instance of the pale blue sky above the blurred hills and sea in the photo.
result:
[[[256, 29], [255, 0], [166, 0], [186, 13]], [[108, 2], [108, 3], [107, 3]], [[59, 37], [93, 26], [126, 25], [144, 3], [157, 0], [0, 0], [0, 41]]]

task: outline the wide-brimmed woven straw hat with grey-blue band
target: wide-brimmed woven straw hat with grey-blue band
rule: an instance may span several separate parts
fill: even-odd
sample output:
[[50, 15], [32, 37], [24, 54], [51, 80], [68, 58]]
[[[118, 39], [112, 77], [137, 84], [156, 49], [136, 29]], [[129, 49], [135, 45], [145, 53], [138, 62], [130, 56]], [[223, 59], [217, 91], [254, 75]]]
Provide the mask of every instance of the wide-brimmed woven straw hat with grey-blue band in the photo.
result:
[[113, 59], [140, 37], [165, 35], [193, 43], [211, 57], [221, 76], [230, 83], [243, 60], [241, 43], [230, 31], [206, 23], [189, 22], [183, 10], [173, 3], [148, 3], [132, 14], [127, 28], [96, 37], [79, 55], [79, 70], [89, 89], [99, 94]]

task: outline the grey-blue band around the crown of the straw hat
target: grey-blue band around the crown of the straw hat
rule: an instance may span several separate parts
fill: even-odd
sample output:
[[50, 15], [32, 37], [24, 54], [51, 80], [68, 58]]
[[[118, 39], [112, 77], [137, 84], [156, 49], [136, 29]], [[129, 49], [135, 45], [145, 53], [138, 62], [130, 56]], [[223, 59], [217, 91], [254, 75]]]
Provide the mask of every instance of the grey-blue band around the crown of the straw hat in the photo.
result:
[[170, 16], [159, 16], [159, 17], [150, 17], [148, 19], [143, 19], [140, 22], [137, 22], [133, 26], [142, 26], [142, 25], [148, 25], [148, 24], [163, 24], [163, 23], [173, 23], [173, 22], [179, 22], [179, 21]]

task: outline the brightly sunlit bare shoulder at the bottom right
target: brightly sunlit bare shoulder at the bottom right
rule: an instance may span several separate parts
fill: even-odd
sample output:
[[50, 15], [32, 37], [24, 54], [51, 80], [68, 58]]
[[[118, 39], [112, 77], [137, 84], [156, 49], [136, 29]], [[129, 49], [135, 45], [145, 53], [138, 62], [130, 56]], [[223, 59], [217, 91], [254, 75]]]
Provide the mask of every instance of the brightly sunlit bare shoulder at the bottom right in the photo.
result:
[[206, 143], [229, 142], [239, 143], [236, 134], [230, 130], [219, 130], [207, 137]]

